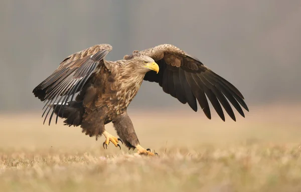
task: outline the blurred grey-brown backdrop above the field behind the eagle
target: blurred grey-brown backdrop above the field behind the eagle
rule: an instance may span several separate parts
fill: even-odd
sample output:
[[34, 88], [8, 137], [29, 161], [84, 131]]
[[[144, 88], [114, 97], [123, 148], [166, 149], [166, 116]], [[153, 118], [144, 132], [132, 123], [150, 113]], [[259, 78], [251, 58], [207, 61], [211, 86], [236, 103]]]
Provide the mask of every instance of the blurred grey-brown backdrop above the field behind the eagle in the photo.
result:
[[[241, 90], [250, 112], [249, 120], [239, 121], [250, 122], [252, 115], [273, 121], [276, 110], [278, 121], [287, 125], [293, 119], [294, 127], [299, 126], [300, 0], [2, 0], [0, 5], [3, 115], [38, 112], [35, 122], [42, 127], [43, 103], [32, 90], [69, 54], [109, 43], [113, 50], [106, 59], [117, 60], [135, 49], [171, 43]], [[158, 107], [206, 120], [158, 84], [143, 82], [129, 109]], [[16, 116], [11, 118], [4, 116], [2, 123], [14, 122]], [[221, 126], [231, 123], [226, 120]]]

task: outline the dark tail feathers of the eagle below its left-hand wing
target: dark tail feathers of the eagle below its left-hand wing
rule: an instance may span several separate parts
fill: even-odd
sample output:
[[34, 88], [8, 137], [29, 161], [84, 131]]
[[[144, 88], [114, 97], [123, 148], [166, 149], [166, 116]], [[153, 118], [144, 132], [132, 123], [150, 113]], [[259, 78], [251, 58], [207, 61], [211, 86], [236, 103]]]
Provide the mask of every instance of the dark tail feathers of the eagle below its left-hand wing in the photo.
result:
[[82, 101], [69, 101], [66, 103], [64, 110], [59, 110], [60, 106], [64, 104], [64, 102], [51, 103], [50, 107], [54, 108], [54, 113], [57, 114], [59, 117], [66, 118], [64, 120], [64, 125], [80, 125], [84, 114], [84, 107]]

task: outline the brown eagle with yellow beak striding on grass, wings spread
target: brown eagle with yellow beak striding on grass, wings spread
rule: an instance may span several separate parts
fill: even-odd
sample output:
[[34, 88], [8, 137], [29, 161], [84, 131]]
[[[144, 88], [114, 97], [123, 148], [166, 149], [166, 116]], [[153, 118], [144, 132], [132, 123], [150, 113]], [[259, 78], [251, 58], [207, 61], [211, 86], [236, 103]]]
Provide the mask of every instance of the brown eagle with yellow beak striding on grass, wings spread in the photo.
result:
[[[158, 83], [164, 92], [188, 103], [194, 111], [198, 110], [198, 102], [209, 119], [207, 97], [223, 121], [222, 106], [234, 121], [230, 103], [243, 117], [242, 107], [249, 111], [242, 93], [233, 84], [175, 45], [160, 44], [134, 50], [121, 60], [105, 60], [111, 50], [110, 44], [96, 44], [71, 54], [34, 88], [35, 97], [45, 102], [44, 123], [47, 116], [49, 125], [53, 117], [56, 123], [60, 117], [64, 125], [80, 126], [82, 132], [96, 140], [104, 135], [104, 148], [110, 142], [121, 148], [120, 141], [128, 149], [136, 148], [138, 154], [153, 156], [158, 153], [140, 145], [127, 113], [143, 81]], [[105, 130], [109, 122], [118, 137]]]

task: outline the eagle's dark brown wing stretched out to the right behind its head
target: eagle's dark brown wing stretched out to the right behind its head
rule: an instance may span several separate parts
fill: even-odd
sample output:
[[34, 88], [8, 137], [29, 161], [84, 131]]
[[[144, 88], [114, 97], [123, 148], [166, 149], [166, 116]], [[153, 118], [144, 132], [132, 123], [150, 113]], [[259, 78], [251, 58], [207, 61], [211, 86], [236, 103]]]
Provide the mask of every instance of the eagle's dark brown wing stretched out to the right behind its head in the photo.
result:
[[158, 74], [155, 71], [147, 72], [144, 80], [158, 82], [164, 92], [178, 98], [182, 103], [188, 103], [195, 111], [198, 100], [209, 119], [211, 112], [206, 95], [224, 121], [225, 115], [221, 104], [229, 116], [236, 120], [228, 100], [243, 117], [244, 112], [240, 105], [249, 110], [243, 95], [234, 85], [178, 47], [161, 44], [142, 51], [134, 51], [132, 55], [125, 55], [124, 58], [130, 59], [139, 54], [152, 57], [160, 67]]

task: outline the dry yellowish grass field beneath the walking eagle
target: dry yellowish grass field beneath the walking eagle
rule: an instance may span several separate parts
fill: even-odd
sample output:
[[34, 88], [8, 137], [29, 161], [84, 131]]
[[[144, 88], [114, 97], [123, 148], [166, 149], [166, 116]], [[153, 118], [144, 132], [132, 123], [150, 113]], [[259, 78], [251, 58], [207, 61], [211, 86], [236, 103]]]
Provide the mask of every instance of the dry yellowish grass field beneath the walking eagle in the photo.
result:
[[[0, 116], [1, 191], [300, 191], [300, 106], [251, 106], [222, 122], [201, 112], [130, 112], [145, 157], [42, 125], [40, 113]], [[286, 111], [286, 112], [284, 112]], [[181, 114], [186, 114], [180, 118]], [[145, 126], [146, 124], [146, 126]], [[114, 133], [111, 125], [108, 131]]]

